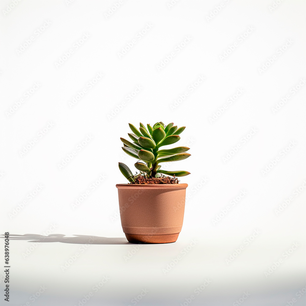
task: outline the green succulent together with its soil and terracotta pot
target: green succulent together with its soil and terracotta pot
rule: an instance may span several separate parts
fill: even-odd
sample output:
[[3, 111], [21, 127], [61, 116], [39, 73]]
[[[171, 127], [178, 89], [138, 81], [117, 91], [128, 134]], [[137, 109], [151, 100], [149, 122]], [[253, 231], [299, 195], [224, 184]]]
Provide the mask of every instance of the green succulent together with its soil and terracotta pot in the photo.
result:
[[163, 146], [180, 140], [185, 126], [157, 122], [153, 127], [140, 123], [139, 130], [129, 123], [132, 142], [120, 138], [122, 150], [137, 159], [135, 175], [124, 163], [119, 162], [121, 173], [128, 184], [117, 184], [120, 218], [123, 232], [131, 243], [175, 242], [183, 225], [187, 184], [179, 184], [177, 177], [188, 171], [165, 171], [162, 162], [186, 159], [188, 147], [164, 149]]

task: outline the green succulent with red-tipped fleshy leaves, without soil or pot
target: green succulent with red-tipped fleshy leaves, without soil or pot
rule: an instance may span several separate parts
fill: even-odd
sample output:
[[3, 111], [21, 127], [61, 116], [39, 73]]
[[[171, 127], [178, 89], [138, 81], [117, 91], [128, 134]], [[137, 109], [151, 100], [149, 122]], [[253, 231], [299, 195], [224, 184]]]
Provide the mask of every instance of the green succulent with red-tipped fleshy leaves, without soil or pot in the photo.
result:
[[152, 178], [159, 177], [161, 173], [174, 177], [190, 174], [188, 171], [161, 170], [161, 166], [159, 165], [162, 162], [174, 162], [186, 159], [190, 156], [189, 153], [185, 153], [189, 150], [188, 147], [175, 147], [173, 149], [161, 148], [169, 144], [174, 144], [180, 140], [181, 137], [179, 134], [184, 131], [185, 126], [178, 129], [176, 125], [173, 125], [173, 122], [166, 126], [162, 122], [157, 122], [153, 127], [147, 124], [146, 128], [140, 122], [139, 130], [130, 123], [129, 127], [133, 132], [128, 133], [132, 142], [120, 138], [123, 142], [122, 150], [138, 160], [135, 163], [135, 167], [140, 173], [133, 175], [129, 167], [122, 162], [119, 162], [119, 169], [130, 182], [133, 182], [137, 175], [144, 175]]

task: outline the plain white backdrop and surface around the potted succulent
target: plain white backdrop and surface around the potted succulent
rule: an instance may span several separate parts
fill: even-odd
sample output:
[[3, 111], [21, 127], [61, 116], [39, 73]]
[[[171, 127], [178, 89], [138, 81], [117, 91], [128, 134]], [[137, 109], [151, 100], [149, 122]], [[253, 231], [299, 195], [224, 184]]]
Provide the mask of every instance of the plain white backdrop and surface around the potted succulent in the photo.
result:
[[[235, 305], [240, 298], [243, 305], [286, 305], [293, 298], [304, 305], [305, 294], [296, 293], [305, 292], [305, 1], [12, 3], [2, 0], [0, 13], [1, 231], [85, 236], [12, 240], [10, 302], [2, 296], [0, 304], [82, 306], [93, 292], [83, 304], [132, 305], [147, 289], [137, 305]], [[87, 87], [97, 73], [103, 77]], [[195, 83], [200, 76], [204, 81]], [[137, 86], [140, 92], [126, 99]], [[190, 147], [192, 156], [164, 165], [191, 172], [181, 178], [189, 185], [184, 225], [176, 243], [144, 245], [126, 259], [135, 245], [125, 242], [117, 215], [115, 185], [127, 182], [118, 162], [136, 170], [120, 137], [128, 137], [128, 123], [157, 121], [186, 126], [177, 145]], [[245, 196], [231, 205], [241, 191]], [[86, 246], [91, 236], [98, 238]], [[247, 245], [247, 238], [254, 240]], [[195, 246], [164, 273], [193, 239]], [[103, 276], [110, 280], [94, 292]], [[3, 271], [0, 279], [3, 291]], [[197, 295], [205, 279], [211, 283]], [[38, 294], [40, 286], [47, 289]]]

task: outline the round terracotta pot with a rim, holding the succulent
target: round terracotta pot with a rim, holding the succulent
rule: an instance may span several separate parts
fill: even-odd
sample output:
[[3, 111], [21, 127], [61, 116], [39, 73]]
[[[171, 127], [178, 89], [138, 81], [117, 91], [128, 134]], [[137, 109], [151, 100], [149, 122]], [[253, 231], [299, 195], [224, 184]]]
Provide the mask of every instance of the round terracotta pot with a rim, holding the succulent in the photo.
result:
[[175, 242], [181, 232], [188, 184], [117, 184], [120, 218], [131, 243]]

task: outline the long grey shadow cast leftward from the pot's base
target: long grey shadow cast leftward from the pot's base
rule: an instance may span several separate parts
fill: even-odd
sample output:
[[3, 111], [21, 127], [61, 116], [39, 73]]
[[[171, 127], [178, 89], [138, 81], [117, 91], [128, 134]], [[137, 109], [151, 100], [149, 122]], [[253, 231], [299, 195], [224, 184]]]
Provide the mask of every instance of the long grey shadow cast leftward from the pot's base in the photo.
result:
[[[88, 235], [73, 235], [74, 237], [65, 237], [63, 234], [52, 234], [48, 236], [38, 234], [9, 234], [9, 240], [27, 240], [28, 242], [62, 242], [75, 244], [130, 244], [125, 237], [99, 237]], [[0, 235], [0, 238], [5, 238]]]

